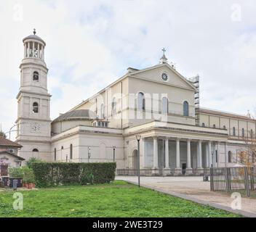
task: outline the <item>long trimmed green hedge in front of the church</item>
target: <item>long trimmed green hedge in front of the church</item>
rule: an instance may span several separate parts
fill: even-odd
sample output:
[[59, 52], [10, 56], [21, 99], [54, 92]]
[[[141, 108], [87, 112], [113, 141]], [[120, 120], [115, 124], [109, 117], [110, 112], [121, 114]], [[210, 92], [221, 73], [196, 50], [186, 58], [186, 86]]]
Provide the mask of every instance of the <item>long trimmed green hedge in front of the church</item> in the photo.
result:
[[33, 162], [37, 188], [60, 185], [109, 183], [115, 178], [115, 162]]

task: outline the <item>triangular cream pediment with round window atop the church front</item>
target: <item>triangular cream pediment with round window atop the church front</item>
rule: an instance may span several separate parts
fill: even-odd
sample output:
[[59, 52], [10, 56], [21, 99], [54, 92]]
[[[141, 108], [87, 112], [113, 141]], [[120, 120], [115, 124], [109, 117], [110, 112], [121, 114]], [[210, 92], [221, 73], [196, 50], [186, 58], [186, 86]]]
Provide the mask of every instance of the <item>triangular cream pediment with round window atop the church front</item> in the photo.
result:
[[[162, 78], [163, 73], [167, 75], [167, 80], [163, 80]], [[191, 90], [195, 90], [193, 83], [191, 83], [186, 78], [184, 78], [183, 75], [181, 75], [179, 72], [177, 72], [173, 67], [171, 67], [167, 63], [149, 67], [144, 70], [137, 70], [135, 72], [131, 72], [129, 75], [137, 78], [157, 81], [160, 83], [166, 83], [172, 86], [179, 86], [181, 88], [188, 88]]]

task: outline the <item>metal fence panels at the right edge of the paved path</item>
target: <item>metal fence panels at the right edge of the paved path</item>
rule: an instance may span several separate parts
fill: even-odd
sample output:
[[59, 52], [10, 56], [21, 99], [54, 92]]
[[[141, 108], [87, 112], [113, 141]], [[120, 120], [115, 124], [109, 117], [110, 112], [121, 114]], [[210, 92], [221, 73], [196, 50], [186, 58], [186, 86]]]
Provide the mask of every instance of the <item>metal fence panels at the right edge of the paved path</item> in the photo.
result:
[[211, 191], [245, 190], [247, 196], [256, 189], [255, 167], [219, 167], [210, 169]]

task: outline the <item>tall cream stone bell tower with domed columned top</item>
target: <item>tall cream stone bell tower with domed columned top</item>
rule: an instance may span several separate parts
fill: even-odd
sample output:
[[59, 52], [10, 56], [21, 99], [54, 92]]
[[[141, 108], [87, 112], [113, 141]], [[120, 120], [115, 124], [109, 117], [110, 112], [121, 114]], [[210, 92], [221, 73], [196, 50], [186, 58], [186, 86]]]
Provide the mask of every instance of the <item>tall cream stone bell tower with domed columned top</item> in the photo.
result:
[[46, 43], [33, 35], [23, 38], [24, 57], [20, 64], [20, 91], [17, 94], [17, 143], [23, 147], [18, 155], [52, 160], [50, 153], [51, 120], [47, 90]]

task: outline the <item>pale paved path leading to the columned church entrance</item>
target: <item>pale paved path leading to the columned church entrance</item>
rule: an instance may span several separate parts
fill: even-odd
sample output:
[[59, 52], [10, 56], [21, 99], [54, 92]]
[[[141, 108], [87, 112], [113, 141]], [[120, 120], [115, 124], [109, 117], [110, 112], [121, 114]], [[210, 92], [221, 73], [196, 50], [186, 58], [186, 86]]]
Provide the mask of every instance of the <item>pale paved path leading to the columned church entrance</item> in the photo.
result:
[[[137, 183], [136, 176], [116, 176], [116, 180]], [[202, 177], [141, 177], [140, 183], [141, 186], [152, 188], [166, 194], [256, 218], [256, 199], [243, 197], [241, 199], [241, 210], [232, 210], [231, 202], [233, 199], [231, 195], [209, 191], [209, 182], [202, 181]]]

